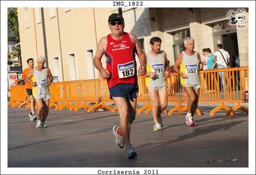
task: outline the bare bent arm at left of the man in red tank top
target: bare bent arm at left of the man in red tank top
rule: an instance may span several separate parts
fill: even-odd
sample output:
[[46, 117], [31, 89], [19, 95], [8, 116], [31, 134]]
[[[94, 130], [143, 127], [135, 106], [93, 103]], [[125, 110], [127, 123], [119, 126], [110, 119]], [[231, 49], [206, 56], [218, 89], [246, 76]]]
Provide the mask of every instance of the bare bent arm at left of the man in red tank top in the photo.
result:
[[103, 68], [101, 63], [101, 57], [107, 49], [107, 43], [107, 37], [101, 38], [101, 40], [99, 40], [97, 51], [94, 56], [94, 66], [99, 70], [99, 73], [101, 74], [101, 77], [103, 77], [103, 79], [108, 79], [110, 77], [110, 72]]

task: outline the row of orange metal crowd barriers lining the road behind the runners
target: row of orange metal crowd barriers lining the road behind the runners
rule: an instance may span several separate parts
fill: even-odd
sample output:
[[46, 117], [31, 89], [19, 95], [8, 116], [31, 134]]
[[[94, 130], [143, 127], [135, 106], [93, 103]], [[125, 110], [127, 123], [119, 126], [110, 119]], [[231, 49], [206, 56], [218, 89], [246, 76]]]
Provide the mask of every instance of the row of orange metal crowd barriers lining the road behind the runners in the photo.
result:
[[[222, 77], [219, 77], [219, 72], [223, 73]], [[221, 78], [225, 80], [223, 87], [221, 86]], [[248, 67], [203, 70], [200, 71], [200, 82], [198, 102], [221, 103], [211, 110], [210, 116], [214, 116], [221, 109], [227, 111], [227, 116], [234, 115], [234, 111], [239, 109], [248, 113], [248, 109], [241, 105], [241, 102], [248, 102]], [[137, 102], [144, 103], [144, 105], [137, 112], [140, 114], [143, 110], [146, 110], [145, 113], [148, 114], [152, 106], [146, 89], [145, 77], [138, 76], [138, 85]], [[117, 110], [116, 107], [112, 109], [106, 104], [113, 103], [113, 100], [110, 99], [107, 80], [105, 79], [55, 82], [49, 86], [49, 91], [51, 93], [50, 107], [54, 106], [55, 110], [62, 110], [64, 107], [75, 111], [81, 108], [88, 109], [88, 112], [92, 110], [96, 112], [99, 108], [108, 109], [112, 112]], [[10, 94], [8, 105], [12, 107], [19, 105], [22, 107], [22, 104], [28, 102], [24, 86], [11, 86]], [[180, 84], [180, 77], [177, 73], [171, 73], [171, 76], [167, 79], [167, 101], [168, 103], [177, 103], [175, 107], [169, 110], [169, 115], [173, 114], [175, 110], [178, 110], [178, 114], [187, 110], [187, 107], [182, 105], [182, 103], [187, 103], [187, 95]], [[90, 106], [86, 103], [95, 104]], [[235, 105], [230, 108], [225, 103], [235, 103]], [[199, 109], [196, 112], [198, 115], [201, 114]]]

